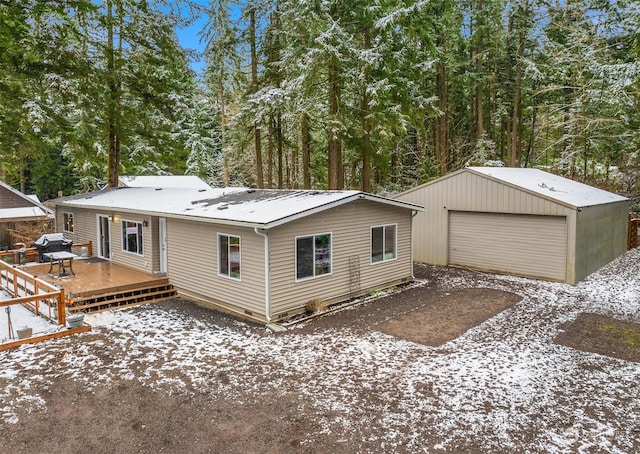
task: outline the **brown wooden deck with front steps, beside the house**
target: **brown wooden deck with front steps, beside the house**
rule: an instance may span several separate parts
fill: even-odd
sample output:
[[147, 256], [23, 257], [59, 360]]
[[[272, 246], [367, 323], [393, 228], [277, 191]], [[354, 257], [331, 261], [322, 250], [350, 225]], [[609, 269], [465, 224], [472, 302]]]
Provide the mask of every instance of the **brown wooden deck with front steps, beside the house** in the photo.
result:
[[[57, 265], [27, 265], [24, 271], [63, 288], [72, 296], [70, 312], [96, 312], [174, 298], [176, 291], [166, 277], [144, 273], [98, 258], [73, 261], [75, 275], [59, 277]], [[67, 269], [67, 272], [69, 270]]]

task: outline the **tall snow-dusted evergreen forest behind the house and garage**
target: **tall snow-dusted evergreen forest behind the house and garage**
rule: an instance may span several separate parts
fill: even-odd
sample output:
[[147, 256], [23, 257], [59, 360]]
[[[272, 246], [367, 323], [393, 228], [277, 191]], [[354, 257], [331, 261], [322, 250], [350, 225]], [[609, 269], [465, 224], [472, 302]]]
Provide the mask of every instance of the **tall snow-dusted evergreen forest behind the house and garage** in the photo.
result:
[[626, 0], [0, 0], [0, 179], [393, 194], [504, 165], [637, 206], [639, 24]]

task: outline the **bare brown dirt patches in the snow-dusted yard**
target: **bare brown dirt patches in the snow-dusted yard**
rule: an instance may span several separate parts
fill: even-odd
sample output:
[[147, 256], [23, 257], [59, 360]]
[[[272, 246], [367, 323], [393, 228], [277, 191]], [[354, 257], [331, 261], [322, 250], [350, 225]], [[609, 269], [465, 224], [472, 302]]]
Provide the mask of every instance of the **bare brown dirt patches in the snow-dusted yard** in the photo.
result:
[[[420, 267], [416, 274], [418, 278], [427, 280], [426, 285], [318, 318], [277, 335], [311, 335], [349, 327], [362, 332], [381, 331], [408, 341], [439, 346], [520, 300], [517, 288], [513, 292], [490, 288], [453, 291], [440, 288], [434, 273], [443, 272], [473, 277], [473, 272], [465, 270]], [[157, 306], [181, 311], [186, 320], [197, 318], [203, 323], [210, 321], [220, 326], [238, 323], [232, 317], [184, 301], [167, 301]], [[614, 349], [618, 351], [616, 344], [585, 346], [593, 340], [594, 324], [598, 322], [587, 317], [567, 323], [557, 342], [605, 355], [614, 354]], [[249, 324], [248, 329], [259, 333], [258, 329], [262, 327]], [[82, 349], [82, 343], [87, 339], [98, 339], [105, 344], [110, 342], [102, 331], [83, 336], [70, 341], [73, 348]], [[247, 393], [245, 396], [240, 393], [228, 397], [216, 394], [212, 397], [197, 386], [187, 392], [159, 390], [145, 386], [141, 378], [131, 377], [123, 377], [109, 387], [88, 392], [85, 384], [62, 374], [51, 373], [56, 362], [62, 367], [65, 353], [52, 350], [50, 354], [53, 358], [48, 360], [46, 384], [33, 384], [46, 401], [46, 411], [33, 410], [27, 405], [18, 414], [18, 423], [0, 422], [2, 453], [346, 453], [377, 452], [380, 449], [378, 445], [368, 445], [366, 441], [355, 444], [331, 432], [326, 433], [321, 441], [309, 443], [307, 440], [303, 443], [307, 434], [319, 431], [319, 419], [315, 417], [317, 415], [309, 417], [309, 411], [312, 410], [307, 400], [295, 392], [288, 393], [286, 398], [276, 399], [269, 392], [261, 395]], [[113, 354], [107, 349], [102, 353], [105, 357]], [[635, 350], [633, 355], [637, 354]], [[614, 355], [620, 357], [619, 353]], [[637, 358], [632, 360], [637, 361]], [[29, 380], [30, 374], [36, 376], [41, 373], [40, 370], [24, 371], [22, 380]], [[144, 363], [141, 363], [140, 376], [144, 373]], [[228, 378], [223, 372], [212, 377], [212, 381], [223, 384], [225, 380]], [[3, 379], [0, 379], [0, 386], [7, 384], [7, 381], [3, 383]], [[362, 392], [368, 391], [365, 389]], [[392, 405], [390, 402], [376, 402], [373, 394], [370, 402], [372, 408], [376, 408], [377, 404]], [[329, 411], [322, 416], [331, 419], [334, 415]], [[335, 416], [338, 417], [338, 413]], [[377, 424], [377, 415], [374, 413], [370, 417], [369, 423]], [[362, 424], [366, 426], [368, 423], [363, 421]], [[411, 428], [407, 427], [406, 430], [410, 431]], [[465, 445], [454, 448], [438, 449], [437, 442], [437, 436], [434, 435], [434, 440], [429, 443], [431, 449], [425, 450], [484, 451], [473, 437]]]

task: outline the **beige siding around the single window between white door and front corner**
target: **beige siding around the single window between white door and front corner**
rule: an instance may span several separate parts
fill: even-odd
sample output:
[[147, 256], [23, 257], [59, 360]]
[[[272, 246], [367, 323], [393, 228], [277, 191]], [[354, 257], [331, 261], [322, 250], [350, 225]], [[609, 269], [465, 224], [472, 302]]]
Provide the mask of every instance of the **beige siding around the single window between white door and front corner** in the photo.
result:
[[[218, 276], [218, 233], [240, 237], [240, 281]], [[167, 256], [167, 275], [179, 290], [264, 315], [264, 239], [252, 229], [169, 218]]]

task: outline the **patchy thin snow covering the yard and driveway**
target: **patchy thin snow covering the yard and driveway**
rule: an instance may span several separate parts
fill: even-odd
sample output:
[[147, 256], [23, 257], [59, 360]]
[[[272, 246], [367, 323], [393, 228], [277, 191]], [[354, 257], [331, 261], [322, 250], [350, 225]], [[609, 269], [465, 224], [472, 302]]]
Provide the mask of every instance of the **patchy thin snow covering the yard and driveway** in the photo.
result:
[[[9, 383], [0, 422], [16, 423], [21, 409], [47, 411], [34, 381], [55, 374], [88, 389], [124, 379], [171, 394], [301, 396], [317, 423], [310, 445], [332, 434], [361, 439], [363, 451], [456, 450], [469, 440], [493, 452], [637, 450], [640, 364], [553, 339], [582, 312], [640, 322], [640, 249], [577, 286], [462, 274], [439, 273], [438, 285], [523, 299], [437, 348], [358, 326], [275, 334], [158, 306], [87, 316], [93, 333], [0, 353]], [[26, 380], [33, 369], [42, 375]]]

